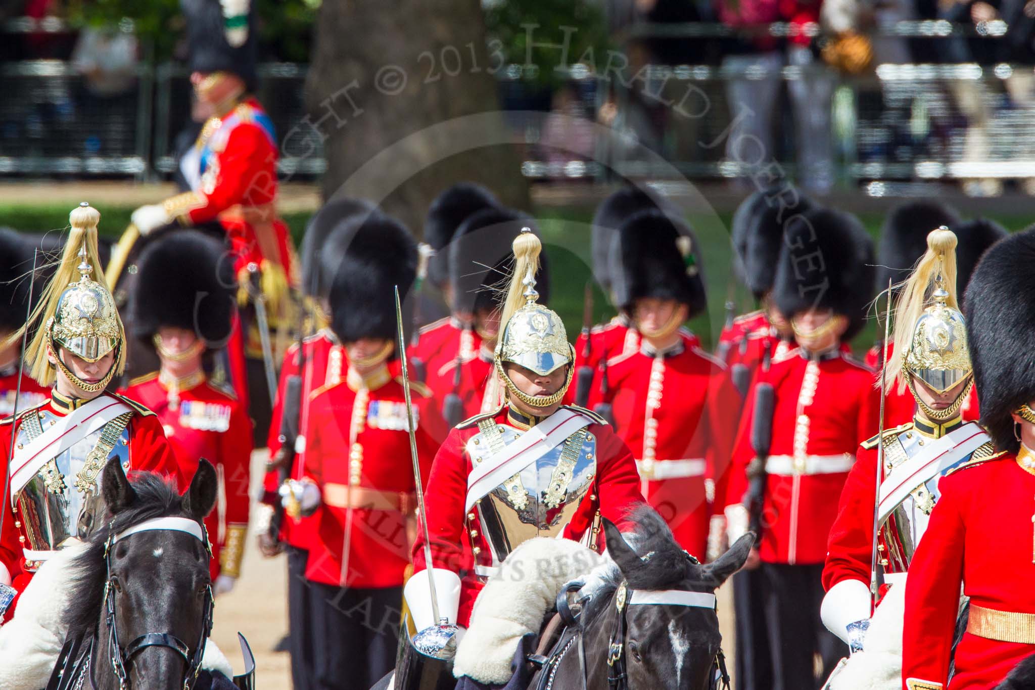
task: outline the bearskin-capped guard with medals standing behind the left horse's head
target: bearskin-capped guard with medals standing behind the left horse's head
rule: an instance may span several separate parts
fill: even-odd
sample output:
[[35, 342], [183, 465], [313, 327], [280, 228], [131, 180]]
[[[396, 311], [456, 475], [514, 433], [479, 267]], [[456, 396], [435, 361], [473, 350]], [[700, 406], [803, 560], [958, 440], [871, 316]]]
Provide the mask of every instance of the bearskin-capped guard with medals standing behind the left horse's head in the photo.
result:
[[212, 589], [225, 594], [240, 576], [244, 556], [252, 456], [247, 411], [206, 374], [214, 348], [230, 335], [231, 267], [218, 242], [190, 231], [158, 239], [138, 263], [130, 323], [161, 366], [130, 382], [125, 395], [157, 416], [184, 477], [195, 475], [200, 458], [215, 467], [223, 501], [205, 518], [205, 529], [212, 543]]

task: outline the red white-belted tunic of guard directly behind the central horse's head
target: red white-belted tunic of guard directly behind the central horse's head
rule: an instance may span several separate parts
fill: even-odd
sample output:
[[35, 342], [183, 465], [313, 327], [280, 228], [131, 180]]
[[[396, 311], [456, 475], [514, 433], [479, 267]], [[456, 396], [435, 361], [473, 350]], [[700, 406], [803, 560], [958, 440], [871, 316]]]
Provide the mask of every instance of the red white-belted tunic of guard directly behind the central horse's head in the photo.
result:
[[[680, 341], [656, 353], [644, 343], [608, 362], [607, 396], [617, 433], [632, 451], [647, 502], [669, 522], [680, 545], [705, 560], [709, 518], [722, 514], [733, 446], [730, 411], [740, 397], [726, 365]], [[716, 493], [717, 491], [717, 493]]]

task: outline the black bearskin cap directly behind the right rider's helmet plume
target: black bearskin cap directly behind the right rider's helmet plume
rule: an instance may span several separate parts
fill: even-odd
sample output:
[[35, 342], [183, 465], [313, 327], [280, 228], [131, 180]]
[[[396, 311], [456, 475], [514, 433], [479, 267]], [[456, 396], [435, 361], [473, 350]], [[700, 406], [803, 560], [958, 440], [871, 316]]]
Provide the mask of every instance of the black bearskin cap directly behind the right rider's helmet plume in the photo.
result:
[[[941, 226], [955, 231], [958, 223], [959, 216], [955, 210], [942, 202], [912, 201], [893, 208], [881, 228], [875, 292], [880, 294], [887, 290], [889, 278], [892, 284], [897, 286], [910, 276], [916, 262], [927, 250], [930, 231]], [[957, 287], [960, 292], [965, 284], [959, 281]]]

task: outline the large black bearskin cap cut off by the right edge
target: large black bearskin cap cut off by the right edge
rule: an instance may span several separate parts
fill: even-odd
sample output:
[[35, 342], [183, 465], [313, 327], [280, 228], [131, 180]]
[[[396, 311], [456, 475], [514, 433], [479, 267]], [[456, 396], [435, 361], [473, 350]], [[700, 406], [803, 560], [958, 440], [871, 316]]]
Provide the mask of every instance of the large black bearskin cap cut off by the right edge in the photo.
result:
[[981, 422], [996, 447], [1016, 451], [1010, 413], [1035, 398], [1035, 227], [989, 248], [964, 296]]

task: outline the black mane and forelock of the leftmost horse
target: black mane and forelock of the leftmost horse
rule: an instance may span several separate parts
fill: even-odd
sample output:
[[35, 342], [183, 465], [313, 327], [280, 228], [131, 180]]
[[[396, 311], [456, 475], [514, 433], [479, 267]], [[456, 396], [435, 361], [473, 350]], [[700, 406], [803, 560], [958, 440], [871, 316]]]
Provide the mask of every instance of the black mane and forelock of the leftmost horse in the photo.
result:
[[183, 499], [176, 485], [165, 477], [142, 472], [135, 474], [131, 485], [137, 497], [132, 504], [119, 511], [114, 518], [107, 514], [107, 521], [99, 526], [87, 540], [87, 547], [72, 559], [72, 576], [69, 584], [68, 607], [62, 614], [68, 637], [92, 634], [100, 618], [108, 573], [105, 564], [105, 544], [112, 532], [119, 534], [128, 528], [154, 517], [180, 515]]

